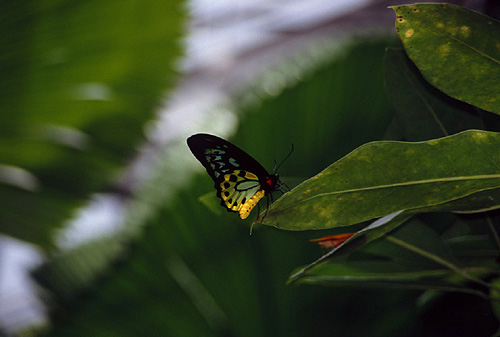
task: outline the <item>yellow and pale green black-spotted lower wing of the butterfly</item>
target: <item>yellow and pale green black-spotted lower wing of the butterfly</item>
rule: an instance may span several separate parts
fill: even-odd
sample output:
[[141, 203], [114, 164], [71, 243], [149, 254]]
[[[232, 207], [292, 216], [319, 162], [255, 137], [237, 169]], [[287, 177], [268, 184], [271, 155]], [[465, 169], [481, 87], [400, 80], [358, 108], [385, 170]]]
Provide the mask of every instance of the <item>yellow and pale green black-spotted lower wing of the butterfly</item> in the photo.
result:
[[239, 212], [242, 219], [248, 217], [250, 211], [265, 195], [260, 188], [259, 178], [244, 170], [225, 174], [219, 187], [224, 205], [233, 212]]

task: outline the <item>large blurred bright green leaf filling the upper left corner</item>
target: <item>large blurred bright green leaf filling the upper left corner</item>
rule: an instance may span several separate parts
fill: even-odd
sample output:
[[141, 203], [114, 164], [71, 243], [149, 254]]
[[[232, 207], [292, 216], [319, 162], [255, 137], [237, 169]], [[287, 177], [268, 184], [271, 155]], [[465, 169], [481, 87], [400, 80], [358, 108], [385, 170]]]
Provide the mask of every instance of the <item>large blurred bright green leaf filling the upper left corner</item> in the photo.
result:
[[49, 246], [126, 163], [172, 81], [182, 4], [2, 2], [1, 233]]

